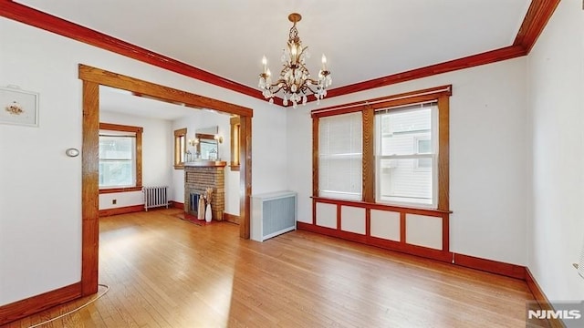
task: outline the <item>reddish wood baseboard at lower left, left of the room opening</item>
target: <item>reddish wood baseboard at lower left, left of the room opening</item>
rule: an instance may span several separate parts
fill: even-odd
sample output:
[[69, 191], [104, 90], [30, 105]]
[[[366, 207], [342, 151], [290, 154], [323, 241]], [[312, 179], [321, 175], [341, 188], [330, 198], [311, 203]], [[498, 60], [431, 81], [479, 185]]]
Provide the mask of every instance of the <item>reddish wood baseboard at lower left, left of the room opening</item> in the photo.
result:
[[0, 325], [81, 297], [81, 282], [0, 306]]

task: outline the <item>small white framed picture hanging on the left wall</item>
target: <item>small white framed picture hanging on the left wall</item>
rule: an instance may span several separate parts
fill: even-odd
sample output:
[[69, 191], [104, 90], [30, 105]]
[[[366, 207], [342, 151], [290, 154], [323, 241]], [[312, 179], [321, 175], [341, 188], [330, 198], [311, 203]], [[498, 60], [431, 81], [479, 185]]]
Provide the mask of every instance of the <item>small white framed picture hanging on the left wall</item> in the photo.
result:
[[38, 127], [38, 93], [0, 87], [0, 123]]

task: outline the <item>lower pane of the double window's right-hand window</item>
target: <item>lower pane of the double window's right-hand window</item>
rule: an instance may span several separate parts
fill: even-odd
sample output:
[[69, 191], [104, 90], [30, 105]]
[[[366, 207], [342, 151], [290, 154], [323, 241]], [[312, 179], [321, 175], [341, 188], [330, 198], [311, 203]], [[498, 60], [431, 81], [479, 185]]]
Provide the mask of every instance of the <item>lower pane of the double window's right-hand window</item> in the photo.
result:
[[[418, 169], [422, 160], [428, 169]], [[432, 204], [433, 158], [380, 159], [378, 186], [381, 201]]]

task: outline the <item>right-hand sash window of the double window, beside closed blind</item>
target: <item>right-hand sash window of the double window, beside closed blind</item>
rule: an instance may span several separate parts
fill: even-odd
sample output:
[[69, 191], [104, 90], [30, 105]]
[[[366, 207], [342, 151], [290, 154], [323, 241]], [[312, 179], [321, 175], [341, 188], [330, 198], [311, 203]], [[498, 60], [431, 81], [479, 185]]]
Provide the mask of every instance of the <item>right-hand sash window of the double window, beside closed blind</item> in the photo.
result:
[[375, 200], [435, 207], [436, 103], [375, 112]]

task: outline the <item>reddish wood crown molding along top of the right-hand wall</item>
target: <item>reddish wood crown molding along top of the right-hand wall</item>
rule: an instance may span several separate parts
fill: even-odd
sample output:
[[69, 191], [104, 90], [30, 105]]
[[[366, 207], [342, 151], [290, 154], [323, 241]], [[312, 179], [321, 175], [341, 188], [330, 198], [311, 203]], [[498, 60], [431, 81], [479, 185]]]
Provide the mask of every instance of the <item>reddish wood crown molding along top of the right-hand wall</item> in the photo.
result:
[[535, 46], [537, 37], [546, 27], [551, 15], [554, 14], [560, 0], [531, 0], [527, 14], [517, 32], [513, 46], [522, 46], [529, 54]]

